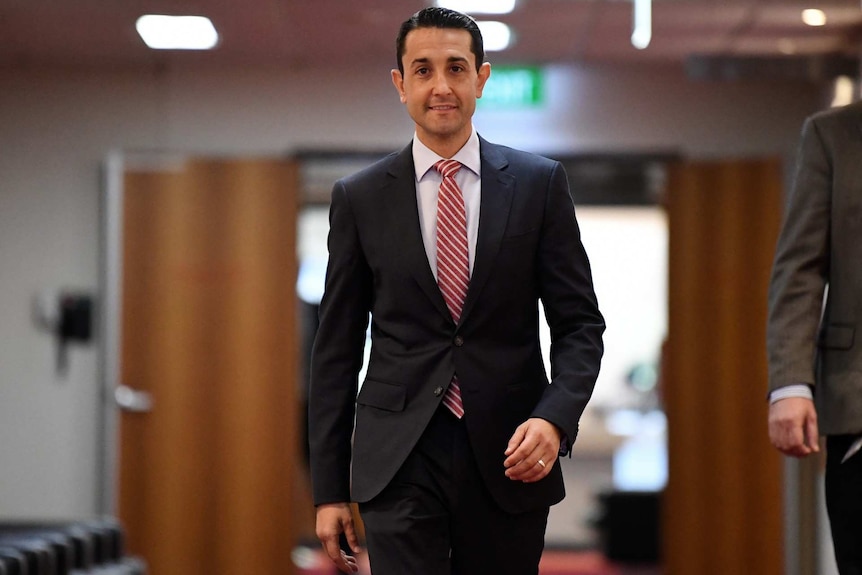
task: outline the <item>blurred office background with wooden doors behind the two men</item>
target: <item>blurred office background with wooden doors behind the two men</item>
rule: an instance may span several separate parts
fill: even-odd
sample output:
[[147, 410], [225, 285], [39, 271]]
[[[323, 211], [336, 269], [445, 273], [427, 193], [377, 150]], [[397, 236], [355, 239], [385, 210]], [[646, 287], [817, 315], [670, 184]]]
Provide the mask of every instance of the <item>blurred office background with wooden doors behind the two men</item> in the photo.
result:
[[[389, 70], [429, 3], [0, 0], [0, 522], [302, 572], [328, 193], [412, 136]], [[549, 547], [830, 573], [819, 469], [766, 438], [763, 323], [802, 121], [858, 96], [858, 0], [446, 4], [500, 23], [476, 127], [564, 162], [608, 321]], [[148, 14], [209, 24], [151, 48]]]

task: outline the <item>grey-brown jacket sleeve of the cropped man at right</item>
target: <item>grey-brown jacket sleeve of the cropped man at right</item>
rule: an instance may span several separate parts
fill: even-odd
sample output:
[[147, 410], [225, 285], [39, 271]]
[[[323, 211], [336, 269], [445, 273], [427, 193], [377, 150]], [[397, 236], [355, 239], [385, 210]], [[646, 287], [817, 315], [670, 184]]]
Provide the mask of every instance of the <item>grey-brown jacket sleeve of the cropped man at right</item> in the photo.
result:
[[820, 128], [802, 129], [796, 175], [769, 287], [769, 389], [814, 385], [814, 358], [829, 275], [832, 164]]

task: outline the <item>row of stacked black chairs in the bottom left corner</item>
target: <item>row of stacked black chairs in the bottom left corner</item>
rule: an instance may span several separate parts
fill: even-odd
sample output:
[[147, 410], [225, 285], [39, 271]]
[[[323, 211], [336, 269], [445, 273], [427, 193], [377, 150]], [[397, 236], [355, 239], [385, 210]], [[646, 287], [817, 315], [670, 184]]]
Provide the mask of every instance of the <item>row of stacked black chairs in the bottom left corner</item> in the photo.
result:
[[0, 523], [0, 575], [146, 575], [113, 519]]

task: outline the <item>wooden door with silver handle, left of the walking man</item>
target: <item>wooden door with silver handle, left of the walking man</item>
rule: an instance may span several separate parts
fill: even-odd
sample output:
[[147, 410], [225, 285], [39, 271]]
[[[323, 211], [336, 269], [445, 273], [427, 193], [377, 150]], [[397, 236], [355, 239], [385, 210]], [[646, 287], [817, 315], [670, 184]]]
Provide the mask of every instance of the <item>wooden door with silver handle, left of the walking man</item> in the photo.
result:
[[298, 453], [297, 168], [123, 177], [119, 516], [154, 575], [289, 574]]

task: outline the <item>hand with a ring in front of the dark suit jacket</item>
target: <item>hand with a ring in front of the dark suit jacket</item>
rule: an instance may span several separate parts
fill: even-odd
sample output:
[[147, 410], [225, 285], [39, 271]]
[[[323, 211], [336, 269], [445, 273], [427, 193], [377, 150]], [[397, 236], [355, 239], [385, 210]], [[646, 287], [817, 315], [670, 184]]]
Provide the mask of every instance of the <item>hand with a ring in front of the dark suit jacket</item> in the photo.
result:
[[533, 483], [551, 472], [563, 434], [556, 425], [533, 417], [518, 426], [506, 448], [506, 477]]

